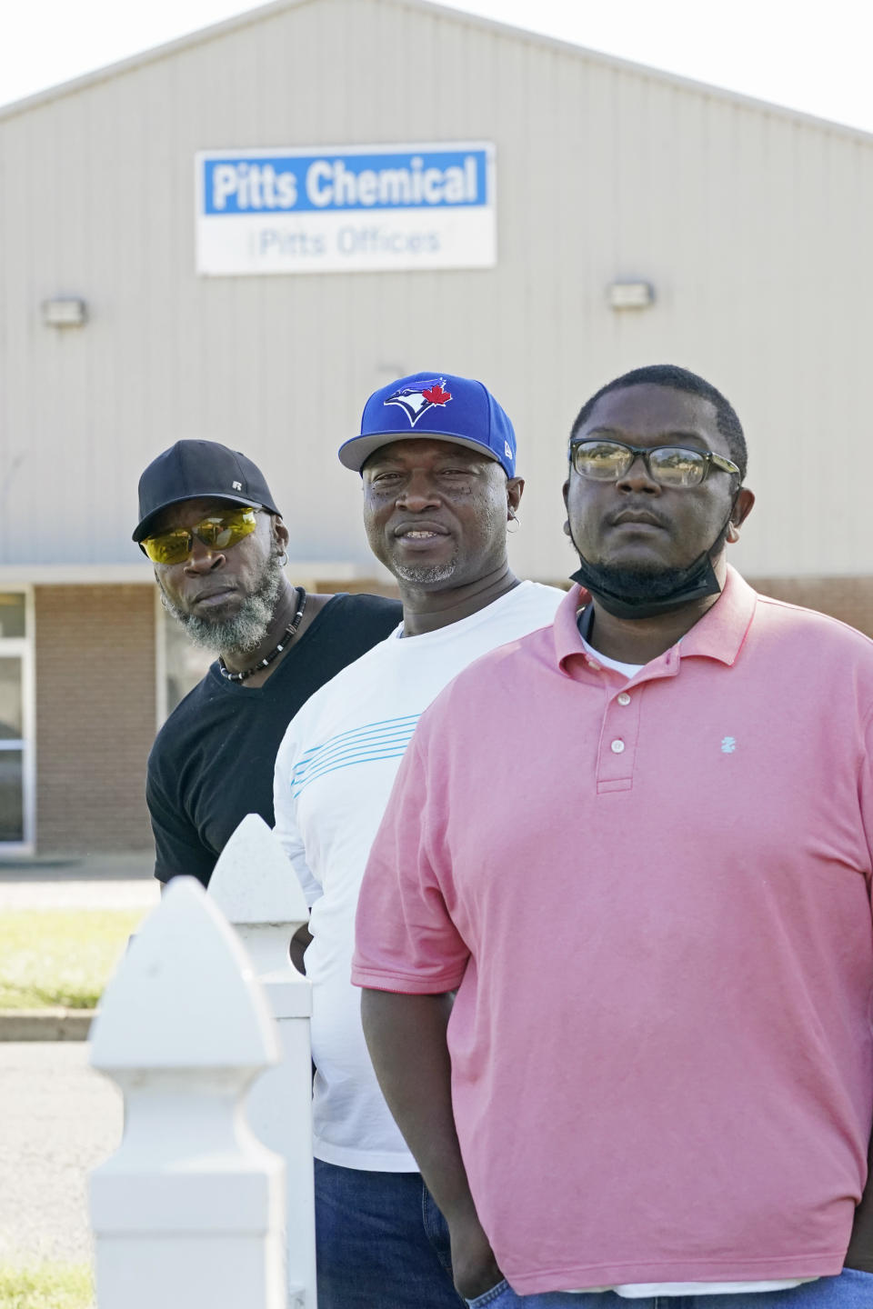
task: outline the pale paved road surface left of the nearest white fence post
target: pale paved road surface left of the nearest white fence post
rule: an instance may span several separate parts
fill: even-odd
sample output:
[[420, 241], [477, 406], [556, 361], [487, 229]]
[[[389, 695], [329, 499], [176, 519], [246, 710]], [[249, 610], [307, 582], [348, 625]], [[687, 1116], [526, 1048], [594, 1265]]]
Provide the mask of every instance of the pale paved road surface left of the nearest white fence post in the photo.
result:
[[82, 1042], [0, 1043], [0, 1261], [86, 1261], [88, 1170], [122, 1138], [118, 1088]]

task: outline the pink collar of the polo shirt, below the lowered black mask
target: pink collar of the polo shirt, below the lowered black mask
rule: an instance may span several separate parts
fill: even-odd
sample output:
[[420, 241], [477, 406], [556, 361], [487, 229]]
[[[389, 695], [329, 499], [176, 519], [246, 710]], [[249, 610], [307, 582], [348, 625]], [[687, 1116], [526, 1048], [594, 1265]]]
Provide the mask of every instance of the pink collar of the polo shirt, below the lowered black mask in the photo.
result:
[[[563, 672], [568, 672], [565, 661], [573, 656], [585, 654], [585, 647], [579, 634], [576, 614], [592, 597], [581, 586], [571, 586], [555, 614], [555, 656]], [[715, 658], [730, 666], [746, 639], [755, 614], [758, 597], [749, 583], [743, 581], [736, 568], [728, 564], [728, 576], [719, 600], [712, 609], [686, 632], [679, 644], [682, 658], [698, 654]]]

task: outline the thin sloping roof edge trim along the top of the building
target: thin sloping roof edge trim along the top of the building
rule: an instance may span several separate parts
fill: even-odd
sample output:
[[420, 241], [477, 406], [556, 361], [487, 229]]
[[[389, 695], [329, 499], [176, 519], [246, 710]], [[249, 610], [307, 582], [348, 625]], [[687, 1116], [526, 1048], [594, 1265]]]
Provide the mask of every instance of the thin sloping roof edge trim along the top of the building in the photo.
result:
[[[106, 64], [105, 67], [96, 68], [89, 73], [82, 73], [80, 77], [73, 77], [69, 81], [59, 82], [56, 86], [48, 86], [46, 90], [35, 92], [33, 96], [26, 96], [24, 99], [0, 106], [0, 123], [17, 117], [18, 114], [25, 114], [31, 109], [38, 109], [42, 105], [51, 103], [54, 99], [60, 99], [64, 96], [97, 85], [101, 81], [109, 81], [113, 77], [119, 77], [126, 72], [134, 71], [135, 68], [156, 63], [160, 59], [166, 59], [168, 56], [190, 50], [194, 46], [203, 45], [204, 42], [220, 39], [232, 31], [251, 26], [257, 22], [263, 22], [264, 20], [283, 13], [284, 10], [297, 9], [305, 4], [314, 3], [317, 3], [317, 0], [270, 0], [268, 4], [257, 5], [254, 9], [246, 9], [243, 13], [234, 14], [230, 18], [224, 18], [221, 22], [211, 24], [207, 27], [198, 27], [195, 31], [177, 37], [175, 39], [165, 42], [160, 46], [152, 46], [140, 54], [130, 55], [128, 58], [120, 59], [114, 64]], [[577, 46], [572, 41], [563, 41], [559, 37], [550, 37], [544, 33], [531, 31], [529, 27], [517, 27], [513, 24], [500, 22], [496, 18], [487, 18], [483, 14], [470, 13], [465, 9], [455, 9], [452, 5], [440, 4], [438, 0], [372, 0], [372, 3], [387, 3], [397, 5], [398, 8], [418, 9], [431, 14], [442, 14], [446, 18], [452, 18], [469, 27], [497, 31], [516, 39], [521, 37], [533, 45], [544, 46], [546, 48], [558, 50], [564, 54], [573, 54], [593, 63], [614, 68], [619, 72], [633, 73], [637, 77], [647, 77], [652, 81], [677, 86], [681, 90], [692, 92], [698, 96], [705, 96], [711, 99], [720, 99], [726, 103], [739, 105], [757, 113], [764, 113], [788, 122], [815, 127], [819, 131], [843, 136], [861, 144], [873, 143], [873, 131], [868, 132], [861, 127], [851, 127], [848, 123], [840, 123], [830, 118], [819, 118], [815, 114], [808, 114], [800, 109], [791, 109], [788, 105], [777, 105], [772, 101], [758, 99], [755, 96], [746, 96], [743, 92], [730, 90], [726, 86], [696, 81], [694, 77], [685, 77], [682, 73], [673, 73], [664, 68], [654, 68], [649, 64], [637, 64], [631, 59], [622, 59], [619, 55], [610, 55], [606, 54], [606, 51], [594, 50], [590, 46]]]

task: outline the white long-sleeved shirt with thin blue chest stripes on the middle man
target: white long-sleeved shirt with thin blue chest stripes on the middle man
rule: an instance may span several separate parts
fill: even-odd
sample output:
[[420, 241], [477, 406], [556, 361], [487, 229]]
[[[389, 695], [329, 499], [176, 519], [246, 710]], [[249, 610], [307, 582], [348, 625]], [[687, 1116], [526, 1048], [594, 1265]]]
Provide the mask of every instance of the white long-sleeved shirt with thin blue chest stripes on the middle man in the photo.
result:
[[[370, 1066], [351, 975], [355, 911], [373, 838], [415, 724], [480, 654], [546, 627], [564, 592], [524, 581], [470, 618], [374, 645], [292, 719], [276, 758], [276, 835], [312, 906], [315, 1157], [415, 1173]], [[507, 749], [512, 749], [507, 719]], [[510, 812], [516, 797], [507, 797]]]

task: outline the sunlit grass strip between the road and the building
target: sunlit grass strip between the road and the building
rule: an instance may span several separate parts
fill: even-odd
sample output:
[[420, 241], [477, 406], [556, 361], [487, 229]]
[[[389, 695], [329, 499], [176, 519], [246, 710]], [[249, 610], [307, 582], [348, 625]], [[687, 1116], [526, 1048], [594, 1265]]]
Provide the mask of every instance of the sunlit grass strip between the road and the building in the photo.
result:
[[[0, 1009], [54, 1004], [93, 1009], [145, 912], [16, 910], [0, 915]], [[0, 1299], [0, 1306], [5, 1304]]]

